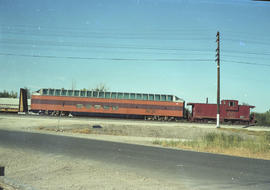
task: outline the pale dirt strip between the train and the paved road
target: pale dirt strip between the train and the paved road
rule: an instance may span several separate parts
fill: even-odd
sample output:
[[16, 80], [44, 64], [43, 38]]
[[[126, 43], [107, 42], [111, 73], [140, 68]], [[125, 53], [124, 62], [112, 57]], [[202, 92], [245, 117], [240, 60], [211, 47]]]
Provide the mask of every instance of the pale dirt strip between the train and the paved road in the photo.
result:
[[[243, 129], [240, 125], [222, 128]], [[155, 122], [142, 120], [67, 118], [0, 115], [0, 129], [53, 133], [81, 138], [152, 145], [154, 140], [189, 140], [209, 132], [220, 132], [215, 124]], [[245, 130], [270, 131], [268, 127], [249, 127]], [[225, 132], [226, 131], [222, 131]]]

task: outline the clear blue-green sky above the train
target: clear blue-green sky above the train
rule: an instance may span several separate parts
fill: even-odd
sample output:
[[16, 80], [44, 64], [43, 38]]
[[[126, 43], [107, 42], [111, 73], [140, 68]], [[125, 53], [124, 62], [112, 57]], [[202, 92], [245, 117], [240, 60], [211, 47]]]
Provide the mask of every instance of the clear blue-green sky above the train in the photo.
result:
[[[270, 109], [270, 3], [0, 0], [0, 91], [28, 87], [173, 94]], [[73, 81], [73, 82], [72, 82]]]

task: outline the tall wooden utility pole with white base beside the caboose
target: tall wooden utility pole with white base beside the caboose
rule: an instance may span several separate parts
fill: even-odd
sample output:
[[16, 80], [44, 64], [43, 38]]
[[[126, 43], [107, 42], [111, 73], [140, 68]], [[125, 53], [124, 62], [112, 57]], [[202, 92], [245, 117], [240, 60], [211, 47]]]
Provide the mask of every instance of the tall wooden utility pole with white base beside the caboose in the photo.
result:
[[220, 128], [219, 125], [219, 114], [220, 114], [220, 39], [219, 39], [219, 31], [217, 32], [217, 54], [216, 54], [216, 62], [217, 62], [217, 128]]

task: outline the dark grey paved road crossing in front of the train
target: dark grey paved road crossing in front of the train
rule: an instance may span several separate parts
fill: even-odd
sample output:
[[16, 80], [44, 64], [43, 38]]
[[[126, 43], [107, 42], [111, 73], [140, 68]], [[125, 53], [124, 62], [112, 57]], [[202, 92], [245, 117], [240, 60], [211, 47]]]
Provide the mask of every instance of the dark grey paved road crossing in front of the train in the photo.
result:
[[266, 160], [5, 130], [0, 130], [0, 146], [99, 160], [191, 189], [270, 189]]

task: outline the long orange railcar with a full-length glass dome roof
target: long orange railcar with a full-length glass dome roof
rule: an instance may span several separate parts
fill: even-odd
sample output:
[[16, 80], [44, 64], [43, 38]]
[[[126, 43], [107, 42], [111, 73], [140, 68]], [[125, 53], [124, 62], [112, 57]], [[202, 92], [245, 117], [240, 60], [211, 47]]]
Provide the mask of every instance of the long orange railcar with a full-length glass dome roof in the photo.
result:
[[147, 120], [178, 120], [185, 102], [165, 94], [40, 89], [31, 98], [31, 111], [41, 114], [89, 115]]

